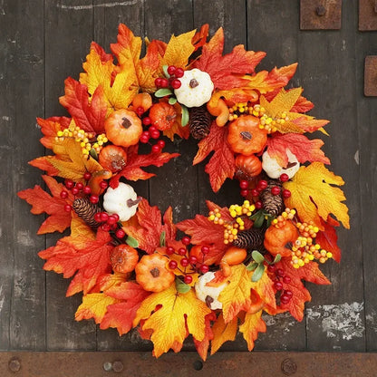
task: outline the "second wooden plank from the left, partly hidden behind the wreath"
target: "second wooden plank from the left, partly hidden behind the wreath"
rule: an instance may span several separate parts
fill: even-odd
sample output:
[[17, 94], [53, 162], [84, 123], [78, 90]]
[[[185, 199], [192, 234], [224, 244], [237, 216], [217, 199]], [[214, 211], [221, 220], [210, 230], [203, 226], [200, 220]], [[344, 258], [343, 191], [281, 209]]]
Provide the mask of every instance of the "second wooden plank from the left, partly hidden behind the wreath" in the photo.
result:
[[[80, 0], [46, 2], [46, 101], [45, 116], [67, 115], [59, 104], [64, 93], [64, 80], [72, 76], [78, 80], [82, 62], [92, 42], [92, 5]], [[58, 235], [48, 237], [53, 246]], [[91, 322], [76, 323], [74, 313], [81, 304], [81, 295], [65, 298], [68, 281], [62, 275], [47, 273], [47, 349], [95, 350], [96, 329]]]

